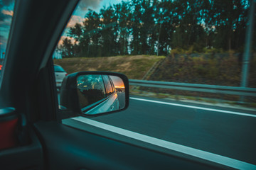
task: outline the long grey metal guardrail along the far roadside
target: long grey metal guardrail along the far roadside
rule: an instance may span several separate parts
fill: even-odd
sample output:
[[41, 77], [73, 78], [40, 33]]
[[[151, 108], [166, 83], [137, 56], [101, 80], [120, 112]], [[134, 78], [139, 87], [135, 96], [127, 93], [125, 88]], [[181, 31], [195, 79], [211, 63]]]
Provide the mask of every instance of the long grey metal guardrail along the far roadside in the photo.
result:
[[238, 96], [256, 97], [256, 88], [238, 87], [238, 86], [215, 86], [208, 84], [186, 84], [165, 81], [146, 81], [129, 79], [129, 85], [146, 86], [161, 89], [174, 89], [183, 91], [198, 91], [213, 94], [230, 94]]

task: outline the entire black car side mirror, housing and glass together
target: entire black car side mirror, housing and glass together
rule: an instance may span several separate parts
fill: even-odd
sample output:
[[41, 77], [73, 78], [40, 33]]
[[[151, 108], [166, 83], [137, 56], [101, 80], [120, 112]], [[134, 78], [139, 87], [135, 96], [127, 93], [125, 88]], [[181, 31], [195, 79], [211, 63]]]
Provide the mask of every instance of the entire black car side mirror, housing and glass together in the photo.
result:
[[63, 79], [60, 110], [64, 118], [123, 111], [129, 106], [129, 81], [115, 72], [77, 72]]

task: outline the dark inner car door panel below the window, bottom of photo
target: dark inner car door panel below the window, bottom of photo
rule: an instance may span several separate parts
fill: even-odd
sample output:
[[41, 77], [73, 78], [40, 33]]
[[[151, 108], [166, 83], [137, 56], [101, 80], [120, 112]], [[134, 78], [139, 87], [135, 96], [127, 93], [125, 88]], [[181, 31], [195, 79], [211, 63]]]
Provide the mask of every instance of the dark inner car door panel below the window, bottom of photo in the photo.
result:
[[216, 169], [61, 123], [36, 123], [48, 169]]

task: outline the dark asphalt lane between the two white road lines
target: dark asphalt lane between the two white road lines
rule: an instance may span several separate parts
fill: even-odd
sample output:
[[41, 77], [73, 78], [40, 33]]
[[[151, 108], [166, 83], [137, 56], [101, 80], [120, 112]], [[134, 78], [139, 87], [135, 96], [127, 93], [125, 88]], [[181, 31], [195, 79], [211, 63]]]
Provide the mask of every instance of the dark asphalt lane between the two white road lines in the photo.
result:
[[[175, 105], [131, 99], [126, 111], [91, 119], [179, 145], [256, 164], [254, 111], [156, 98], [144, 99]], [[234, 113], [246, 113], [249, 116]]]

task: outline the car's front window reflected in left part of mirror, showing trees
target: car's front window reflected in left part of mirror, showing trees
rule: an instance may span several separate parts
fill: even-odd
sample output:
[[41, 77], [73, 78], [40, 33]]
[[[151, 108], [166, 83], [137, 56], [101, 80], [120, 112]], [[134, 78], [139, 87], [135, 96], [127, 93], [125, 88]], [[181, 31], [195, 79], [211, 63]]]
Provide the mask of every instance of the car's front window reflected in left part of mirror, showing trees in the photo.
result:
[[78, 97], [80, 108], [101, 101], [106, 97], [101, 75], [82, 75], [78, 77]]

